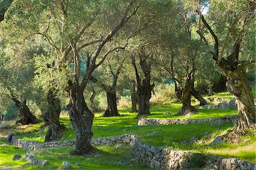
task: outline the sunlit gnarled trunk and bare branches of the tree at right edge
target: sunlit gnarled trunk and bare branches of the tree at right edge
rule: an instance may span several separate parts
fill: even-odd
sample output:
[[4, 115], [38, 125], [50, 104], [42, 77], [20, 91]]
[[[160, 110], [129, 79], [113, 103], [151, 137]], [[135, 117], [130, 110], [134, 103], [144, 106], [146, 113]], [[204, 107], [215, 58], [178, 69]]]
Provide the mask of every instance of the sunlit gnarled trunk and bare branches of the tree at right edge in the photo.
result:
[[[255, 3], [252, 3], [255, 5]], [[247, 11], [247, 16], [245, 17], [245, 20], [243, 21], [243, 26], [245, 24], [248, 24], [250, 20], [254, 16], [254, 7]], [[234, 42], [232, 53], [224, 59], [222, 57], [223, 50], [225, 47], [225, 42], [228, 40], [229, 32], [232, 30], [234, 24], [236, 23], [236, 20], [232, 23], [232, 26], [230, 26], [228, 33], [226, 35], [224, 44], [222, 45], [222, 49], [219, 52], [219, 43], [218, 43], [218, 37], [212, 30], [212, 28], [209, 26], [207, 21], [204, 19], [204, 16], [200, 14], [201, 21], [204, 23], [204, 26], [207, 27], [207, 29], [210, 32], [210, 35], [214, 39], [214, 51], [211, 51], [209, 48], [208, 40], [205, 38], [205, 36], [202, 34], [201, 30], [198, 30], [197, 33], [201, 36], [201, 38], [204, 40], [205, 44], [207, 45], [208, 52], [212, 55], [213, 60], [216, 61], [216, 64], [218, 67], [220, 67], [226, 74], [227, 82], [226, 82], [226, 89], [234, 94], [234, 96], [237, 99], [237, 105], [238, 105], [238, 122], [236, 127], [228, 133], [227, 138], [230, 141], [234, 141], [238, 139], [238, 136], [241, 134], [246, 134], [247, 130], [255, 130], [255, 107], [254, 107], [254, 101], [253, 101], [253, 95], [251, 93], [251, 88], [246, 80], [245, 77], [245, 68], [246, 65], [255, 63], [255, 60], [249, 60], [249, 61], [240, 61], [239, 59], [239, 53], [240, 53], [240, 45], [243, 39], [244, 30], [238, 34], [236, 38], [236, 42]], [[250, 132], [249, 132], [250, 133]]]

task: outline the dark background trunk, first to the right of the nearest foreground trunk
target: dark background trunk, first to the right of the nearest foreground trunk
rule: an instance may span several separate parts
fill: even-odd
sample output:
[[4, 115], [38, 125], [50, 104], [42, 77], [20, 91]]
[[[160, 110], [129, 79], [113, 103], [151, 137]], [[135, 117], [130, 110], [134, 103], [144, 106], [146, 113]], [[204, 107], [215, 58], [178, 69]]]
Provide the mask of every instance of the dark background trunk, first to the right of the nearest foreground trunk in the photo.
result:
[[101, 117], [118, 117], [120, 114], [117, 110], [117, 93], [114, 88], [106, 88], [108, 107]]

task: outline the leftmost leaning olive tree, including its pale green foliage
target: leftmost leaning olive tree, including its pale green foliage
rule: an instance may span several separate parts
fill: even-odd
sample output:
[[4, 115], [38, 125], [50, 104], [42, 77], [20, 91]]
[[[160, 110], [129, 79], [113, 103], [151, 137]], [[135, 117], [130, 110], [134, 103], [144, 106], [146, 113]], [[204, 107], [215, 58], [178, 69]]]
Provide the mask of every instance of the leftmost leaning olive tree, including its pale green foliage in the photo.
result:
[[[17, 123], [30, 124], [39, 122], [32, 115], [28, 106], [31, 101], [41, 111], [44, 109], [44, 96], [41, 90], [33, 86], [34, 80], [34, 54], [43, 53], [38, 45], [28, 45], [31, 42], [24, 42], [23, 45], [13, 45], [3, 40], [1, 45], [0, 61], [0, 84], [5, 90], [1, 91], [2, 97], [14, 101], [17, 109], [22, 115], [22, 119]], [[28, 102], [27, 102], [28, 101]], [[30, 105], [28, 105], [30, 104]]]

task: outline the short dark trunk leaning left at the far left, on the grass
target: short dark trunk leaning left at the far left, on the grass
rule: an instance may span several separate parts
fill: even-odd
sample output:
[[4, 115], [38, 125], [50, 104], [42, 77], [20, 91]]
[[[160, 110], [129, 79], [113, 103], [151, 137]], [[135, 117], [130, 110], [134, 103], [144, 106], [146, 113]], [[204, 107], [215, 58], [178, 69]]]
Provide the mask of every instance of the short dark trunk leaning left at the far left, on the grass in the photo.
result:
[[29, 125], [41, 122], [31, 113], [26, 104], [26, 100], [24, 100], [22, 103], [20, 103], [20, 101], [14, 97], [12, 97], [11, 100], [15, 102], [15, 106], [19, 109], [19, 113], [22, 115], [22, 118], [19, 121], [16, 121], [16, 124], [20, 123], [21, 125]]

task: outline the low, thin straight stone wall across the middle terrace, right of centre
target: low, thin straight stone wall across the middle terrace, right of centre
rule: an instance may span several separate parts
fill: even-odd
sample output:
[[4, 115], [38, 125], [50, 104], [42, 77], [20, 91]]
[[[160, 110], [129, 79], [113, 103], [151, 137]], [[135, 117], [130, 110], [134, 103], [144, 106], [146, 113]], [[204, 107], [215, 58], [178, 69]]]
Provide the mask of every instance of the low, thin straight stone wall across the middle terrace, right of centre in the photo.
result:
[[141, 117], [138, 120], [139, 126], [145, 125], [173, 125], [173, 124], [187, 124], [187, 123], [209, 123], [209, 124], [221, 124], [226, 122], [237, 123], [238, 115], [227, 115], [221, 118], [205, 118], [205, 119], [147, 119]]

